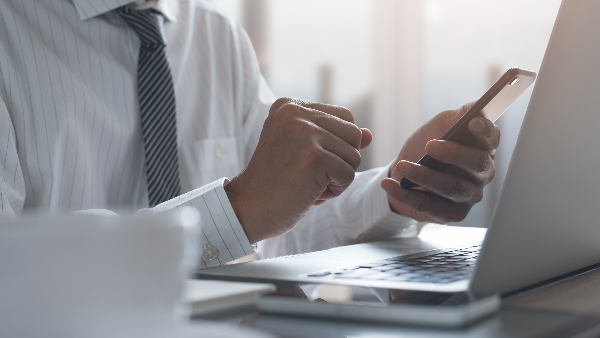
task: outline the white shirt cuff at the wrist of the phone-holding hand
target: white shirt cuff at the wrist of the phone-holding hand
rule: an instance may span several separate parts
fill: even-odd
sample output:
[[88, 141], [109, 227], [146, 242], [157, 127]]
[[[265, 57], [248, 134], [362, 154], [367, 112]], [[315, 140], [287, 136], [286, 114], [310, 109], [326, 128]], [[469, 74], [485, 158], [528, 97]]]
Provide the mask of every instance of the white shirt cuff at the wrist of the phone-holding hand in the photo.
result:
[[421, 228], [427, 223], [417, 222], [412, 218], [402, 216], [392, 210], [381, 181], [388, 177], [391, 163], [371, 177], [365, 191], [363, 215], [366, 227], [377, 226], [379, 232], [385, 232], [389, 237], [416, 237]]

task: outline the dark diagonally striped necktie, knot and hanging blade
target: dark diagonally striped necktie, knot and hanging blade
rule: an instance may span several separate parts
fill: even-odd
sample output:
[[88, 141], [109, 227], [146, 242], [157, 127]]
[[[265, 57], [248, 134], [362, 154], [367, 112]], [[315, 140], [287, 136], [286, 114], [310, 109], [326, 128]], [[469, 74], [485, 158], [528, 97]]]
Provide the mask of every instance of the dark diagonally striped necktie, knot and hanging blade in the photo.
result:
[[164, 18], [154, 10], [115, 10], [140, 37], [138, 96], [146, 155], [148, 202], [154, 207], [180, 193], [177, 117]]

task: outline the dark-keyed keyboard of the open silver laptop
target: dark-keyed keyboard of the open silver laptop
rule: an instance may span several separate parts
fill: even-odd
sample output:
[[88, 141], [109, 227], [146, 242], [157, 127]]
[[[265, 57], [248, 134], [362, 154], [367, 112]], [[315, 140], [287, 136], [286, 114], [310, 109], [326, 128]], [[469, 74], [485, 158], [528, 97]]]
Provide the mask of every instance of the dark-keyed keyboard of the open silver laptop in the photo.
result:
[[352, 268], [332, 270], [308, 277], [333, 277], [416, 283], [452, 283], [467, 279], [473, 272], [481, 245], [406, 259], [386, 258]]

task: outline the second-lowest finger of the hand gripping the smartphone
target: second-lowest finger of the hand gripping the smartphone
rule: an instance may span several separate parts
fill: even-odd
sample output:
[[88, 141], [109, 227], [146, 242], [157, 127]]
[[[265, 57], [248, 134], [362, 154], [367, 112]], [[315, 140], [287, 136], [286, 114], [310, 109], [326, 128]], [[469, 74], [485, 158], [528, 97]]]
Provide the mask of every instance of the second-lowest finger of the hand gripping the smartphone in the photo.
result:
[[472, 182], [454, 174], [407, 161], [398, 162], [396, 170], [421, 187], [457, 203], [479, 202], [483, 198]]

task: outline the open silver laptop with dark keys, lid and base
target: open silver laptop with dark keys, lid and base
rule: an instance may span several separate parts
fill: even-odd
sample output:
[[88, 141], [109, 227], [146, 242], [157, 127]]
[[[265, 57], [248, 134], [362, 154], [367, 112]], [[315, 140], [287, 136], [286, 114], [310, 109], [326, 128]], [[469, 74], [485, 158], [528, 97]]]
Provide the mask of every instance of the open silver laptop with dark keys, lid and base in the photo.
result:
[[598, 1], [563, 1], [487, 233], [447, 227], [415, 239], [205, 269], [197, 277], [486, 296], [599, 263], [598, 17]]

